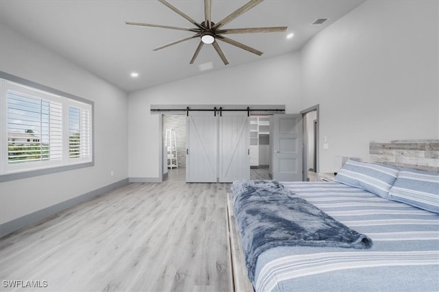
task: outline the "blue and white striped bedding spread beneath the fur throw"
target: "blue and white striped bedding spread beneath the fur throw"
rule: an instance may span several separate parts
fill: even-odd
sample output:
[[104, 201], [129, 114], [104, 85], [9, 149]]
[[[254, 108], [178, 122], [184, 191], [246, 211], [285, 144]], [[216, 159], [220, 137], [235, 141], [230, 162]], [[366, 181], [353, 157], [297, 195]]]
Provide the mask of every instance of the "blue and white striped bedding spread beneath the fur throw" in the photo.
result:
[[439, 214], [341, 183], [283, 185], [373, 246], [267, 250], [257, 261], [255, 291], [439, 291]]

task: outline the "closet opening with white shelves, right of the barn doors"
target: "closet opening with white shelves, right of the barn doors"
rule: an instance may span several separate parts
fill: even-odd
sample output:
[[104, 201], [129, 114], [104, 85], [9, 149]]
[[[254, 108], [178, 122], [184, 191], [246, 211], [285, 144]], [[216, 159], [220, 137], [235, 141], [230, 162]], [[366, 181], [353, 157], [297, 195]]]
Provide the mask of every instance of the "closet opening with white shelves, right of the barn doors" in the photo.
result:
[[271, 179], [270, 116], [250, 116], [250, 179]]

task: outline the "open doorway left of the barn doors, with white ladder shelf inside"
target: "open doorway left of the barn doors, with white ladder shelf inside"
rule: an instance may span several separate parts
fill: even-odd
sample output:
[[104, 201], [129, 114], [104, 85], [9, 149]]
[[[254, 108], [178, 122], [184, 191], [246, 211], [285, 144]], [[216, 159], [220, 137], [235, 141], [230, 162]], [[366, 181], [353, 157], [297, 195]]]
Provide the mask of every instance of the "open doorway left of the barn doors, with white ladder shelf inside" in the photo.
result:
[[186, 116], [163, 114], [163, 181], [186, 181]]

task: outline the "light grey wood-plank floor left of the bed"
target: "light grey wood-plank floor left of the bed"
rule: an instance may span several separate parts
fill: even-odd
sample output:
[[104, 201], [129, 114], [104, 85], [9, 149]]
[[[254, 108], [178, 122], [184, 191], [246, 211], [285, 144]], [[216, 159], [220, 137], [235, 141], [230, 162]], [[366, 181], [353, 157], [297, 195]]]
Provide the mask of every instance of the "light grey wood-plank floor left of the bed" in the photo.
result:
[[230, 291], [222, 183], [131, 183], [0, 239], [21, 291]]

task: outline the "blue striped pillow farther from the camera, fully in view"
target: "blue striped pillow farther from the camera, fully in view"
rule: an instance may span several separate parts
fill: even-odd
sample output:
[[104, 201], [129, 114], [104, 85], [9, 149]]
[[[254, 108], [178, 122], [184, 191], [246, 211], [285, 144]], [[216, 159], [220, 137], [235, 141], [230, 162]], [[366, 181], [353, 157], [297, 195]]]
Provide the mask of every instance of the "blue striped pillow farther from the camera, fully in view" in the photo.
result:
[[399, 168], [395, 166], [348, 159], [335, 176], [335, 181], [387, 198], [398, 172]]

